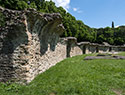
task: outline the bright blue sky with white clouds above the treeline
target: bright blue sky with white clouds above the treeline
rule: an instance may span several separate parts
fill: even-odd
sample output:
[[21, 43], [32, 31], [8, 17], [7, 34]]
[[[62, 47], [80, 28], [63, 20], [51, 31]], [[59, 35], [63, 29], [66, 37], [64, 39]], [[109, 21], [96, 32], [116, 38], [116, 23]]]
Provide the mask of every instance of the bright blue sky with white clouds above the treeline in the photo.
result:
[[[49, 1], [49, 0], [47, 0]], [[90, 27], [125, 25], [125, 0], [52, 0]]]

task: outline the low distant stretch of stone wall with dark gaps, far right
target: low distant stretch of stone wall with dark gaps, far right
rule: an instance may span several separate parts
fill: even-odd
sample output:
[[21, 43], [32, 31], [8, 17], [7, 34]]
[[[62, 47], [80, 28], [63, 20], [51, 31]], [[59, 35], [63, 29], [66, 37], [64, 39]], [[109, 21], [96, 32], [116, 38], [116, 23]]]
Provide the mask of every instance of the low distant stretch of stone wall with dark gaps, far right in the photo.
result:
[[78, 43], [78, 46], [82, 48], [83, 54], [91, 53], [109, 53], [109, 52], [122, 52], [125, 51], [125, 46], [112, 46], [90, 42]]

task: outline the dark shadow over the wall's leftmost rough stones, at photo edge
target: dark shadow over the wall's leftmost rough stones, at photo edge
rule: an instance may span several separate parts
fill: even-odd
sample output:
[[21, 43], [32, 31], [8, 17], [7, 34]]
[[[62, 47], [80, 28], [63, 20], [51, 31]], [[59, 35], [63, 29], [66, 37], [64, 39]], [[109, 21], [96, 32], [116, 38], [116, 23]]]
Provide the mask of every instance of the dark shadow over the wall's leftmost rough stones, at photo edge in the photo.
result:
[[0, 81], [8, 81], [15, 77], [13, 64], [14, 50], [21, 44], [28, 43], [28, 37], [22, 27], [12, 26], [13, 29], [0, 32]]

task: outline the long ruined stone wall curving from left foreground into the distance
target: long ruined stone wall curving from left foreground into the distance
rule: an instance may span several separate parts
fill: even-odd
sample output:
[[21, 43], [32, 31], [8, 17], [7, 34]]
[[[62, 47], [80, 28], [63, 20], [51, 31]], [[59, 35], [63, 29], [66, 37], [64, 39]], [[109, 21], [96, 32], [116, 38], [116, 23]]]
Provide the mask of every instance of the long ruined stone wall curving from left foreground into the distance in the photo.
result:
[[[74, 37], [60, 38], [65, 30], [58, 13], [43, 14], [33, 9], [14, 11], [0, 7], [5, 16], [0, 27], [0, 81], [29, 83], [67, 57], [125, 51], [125, 47], [89, 42], [77, 43]], [[106, 48], [107, 47], [107, 48]]]

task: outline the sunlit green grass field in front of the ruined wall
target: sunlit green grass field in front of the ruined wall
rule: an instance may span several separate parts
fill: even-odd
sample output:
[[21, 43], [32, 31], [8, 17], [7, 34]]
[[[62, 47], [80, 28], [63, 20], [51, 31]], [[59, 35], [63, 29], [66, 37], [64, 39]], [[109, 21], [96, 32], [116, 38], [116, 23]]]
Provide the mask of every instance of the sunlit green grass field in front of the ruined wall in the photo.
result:
[[1, 84], [0, 95], [125, 95], [125, 60], [85, 56], [63, 60], [26, 86]]

